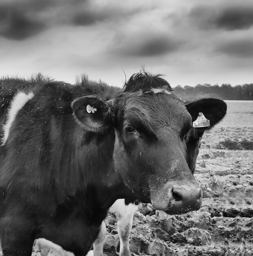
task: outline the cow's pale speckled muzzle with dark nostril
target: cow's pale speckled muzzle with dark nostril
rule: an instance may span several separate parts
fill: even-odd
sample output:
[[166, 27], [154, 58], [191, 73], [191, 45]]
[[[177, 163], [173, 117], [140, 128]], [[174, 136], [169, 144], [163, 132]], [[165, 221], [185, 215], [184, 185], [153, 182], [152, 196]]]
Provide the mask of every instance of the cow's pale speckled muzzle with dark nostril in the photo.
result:
[[202, 189], [194, 180], [170, 181], [151, 191], [151, 202], [157, 210], [166, 213], [184, 213], [200, 209]]

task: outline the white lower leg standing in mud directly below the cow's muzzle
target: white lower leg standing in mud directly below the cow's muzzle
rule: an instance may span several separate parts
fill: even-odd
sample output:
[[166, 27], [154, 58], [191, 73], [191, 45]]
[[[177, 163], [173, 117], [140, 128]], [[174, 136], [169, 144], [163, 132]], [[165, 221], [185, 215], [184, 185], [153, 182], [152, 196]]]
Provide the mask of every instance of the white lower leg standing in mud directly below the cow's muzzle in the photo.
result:
[[120, 236], [120, 256], [130, 256], [129, 236], [133, 224], [133, 213], [130, 212], [124, 218], [118, 220], [118, 234]]

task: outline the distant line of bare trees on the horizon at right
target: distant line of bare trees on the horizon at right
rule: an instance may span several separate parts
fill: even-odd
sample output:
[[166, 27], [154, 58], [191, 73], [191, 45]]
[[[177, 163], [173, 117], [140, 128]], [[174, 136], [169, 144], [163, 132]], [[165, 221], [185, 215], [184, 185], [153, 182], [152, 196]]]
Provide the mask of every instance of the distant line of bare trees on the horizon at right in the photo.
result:
[[195, 87], [181, 85], [173, 88], [174, 93], [182, 99], [200, 99], [205, 97], [223, 100], [253, 100], [253, 83], [231, 86], [228, 83], [219, 85], [198, 84]]

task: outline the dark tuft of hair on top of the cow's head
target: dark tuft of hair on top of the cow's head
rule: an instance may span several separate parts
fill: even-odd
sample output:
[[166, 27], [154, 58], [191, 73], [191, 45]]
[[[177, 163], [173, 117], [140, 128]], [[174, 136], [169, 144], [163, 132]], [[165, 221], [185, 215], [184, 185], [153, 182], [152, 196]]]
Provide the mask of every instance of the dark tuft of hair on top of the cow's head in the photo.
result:
[[141, 70], [129, 78], [124, 84], [123, 90], [124, 92], [138, 92], [140, 90], [145, 92], [152, 89], [163, 89], [171, 92], [170, 84], [162, 76]]

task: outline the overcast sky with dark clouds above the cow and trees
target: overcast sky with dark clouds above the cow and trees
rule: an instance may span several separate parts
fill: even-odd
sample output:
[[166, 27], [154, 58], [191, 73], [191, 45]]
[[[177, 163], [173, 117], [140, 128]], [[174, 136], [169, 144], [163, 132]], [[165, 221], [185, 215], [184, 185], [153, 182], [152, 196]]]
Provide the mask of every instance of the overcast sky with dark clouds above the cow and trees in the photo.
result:
[[122, 86], [142, 66], [172, 87], [253, 83], [253, 1], [0, 0], [0, 76]]

